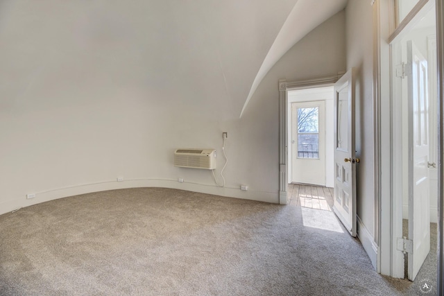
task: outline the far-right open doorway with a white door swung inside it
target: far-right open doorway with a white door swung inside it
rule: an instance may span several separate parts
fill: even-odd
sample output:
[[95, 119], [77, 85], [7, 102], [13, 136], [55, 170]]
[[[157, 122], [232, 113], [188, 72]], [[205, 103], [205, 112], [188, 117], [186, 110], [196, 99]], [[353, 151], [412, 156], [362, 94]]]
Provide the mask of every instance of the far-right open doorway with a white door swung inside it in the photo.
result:
[[398, 152], [393, 159], [393, 186], [398, 194], [393, 198], [402, 207], [395, 209], [402, 214], [394, 223], [402, 225], [395, 227], [400, 232], [398, 251], [405, 254], [404, 277], [411, 281], [436, 279], [437, 263], [436, 20], [434, 6], [422, 10], [418, 20], [411, 21], [414, 26], [404, 29], [391, 44], [393, 150]]

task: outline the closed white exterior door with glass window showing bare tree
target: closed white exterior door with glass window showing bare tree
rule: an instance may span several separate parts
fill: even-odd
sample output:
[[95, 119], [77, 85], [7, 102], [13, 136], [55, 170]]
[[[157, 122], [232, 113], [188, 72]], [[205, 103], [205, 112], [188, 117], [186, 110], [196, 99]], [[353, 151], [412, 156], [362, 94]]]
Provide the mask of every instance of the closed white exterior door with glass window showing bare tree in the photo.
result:
[[291, 180], [325, 186], [325, 103], [291, 104]]

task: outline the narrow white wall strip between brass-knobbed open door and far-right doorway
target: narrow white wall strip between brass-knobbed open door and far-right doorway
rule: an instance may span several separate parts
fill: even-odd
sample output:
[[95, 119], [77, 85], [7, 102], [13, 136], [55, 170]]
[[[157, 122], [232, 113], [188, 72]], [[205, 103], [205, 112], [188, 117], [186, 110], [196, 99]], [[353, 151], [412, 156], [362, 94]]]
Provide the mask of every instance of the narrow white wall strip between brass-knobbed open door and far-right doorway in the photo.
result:
[[375, 246], [375, 171], [373, 128], [373, 10], [370, 1], [348, 1], [347, 69], [356, 68], [356, 150], [358, 236], [373, 266]]

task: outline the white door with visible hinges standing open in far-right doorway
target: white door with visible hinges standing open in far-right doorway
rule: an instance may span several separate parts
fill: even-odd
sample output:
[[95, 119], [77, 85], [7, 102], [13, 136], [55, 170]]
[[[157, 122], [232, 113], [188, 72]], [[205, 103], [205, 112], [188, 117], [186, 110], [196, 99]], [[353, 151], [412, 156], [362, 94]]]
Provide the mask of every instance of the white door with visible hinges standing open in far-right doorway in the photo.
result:
[[427, 60], [407, 42], [409, 122], [409, 279], [413, 281], [430, 250], [429, 102]]

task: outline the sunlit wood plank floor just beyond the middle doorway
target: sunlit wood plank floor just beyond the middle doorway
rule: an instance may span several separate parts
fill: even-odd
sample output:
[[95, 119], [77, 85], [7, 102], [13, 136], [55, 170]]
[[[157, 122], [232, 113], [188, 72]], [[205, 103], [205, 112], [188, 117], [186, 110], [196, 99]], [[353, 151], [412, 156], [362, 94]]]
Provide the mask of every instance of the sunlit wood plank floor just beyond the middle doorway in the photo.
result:
[[289, 184], [290, 205], [332, 211], [333, 189], [309, 184]]

